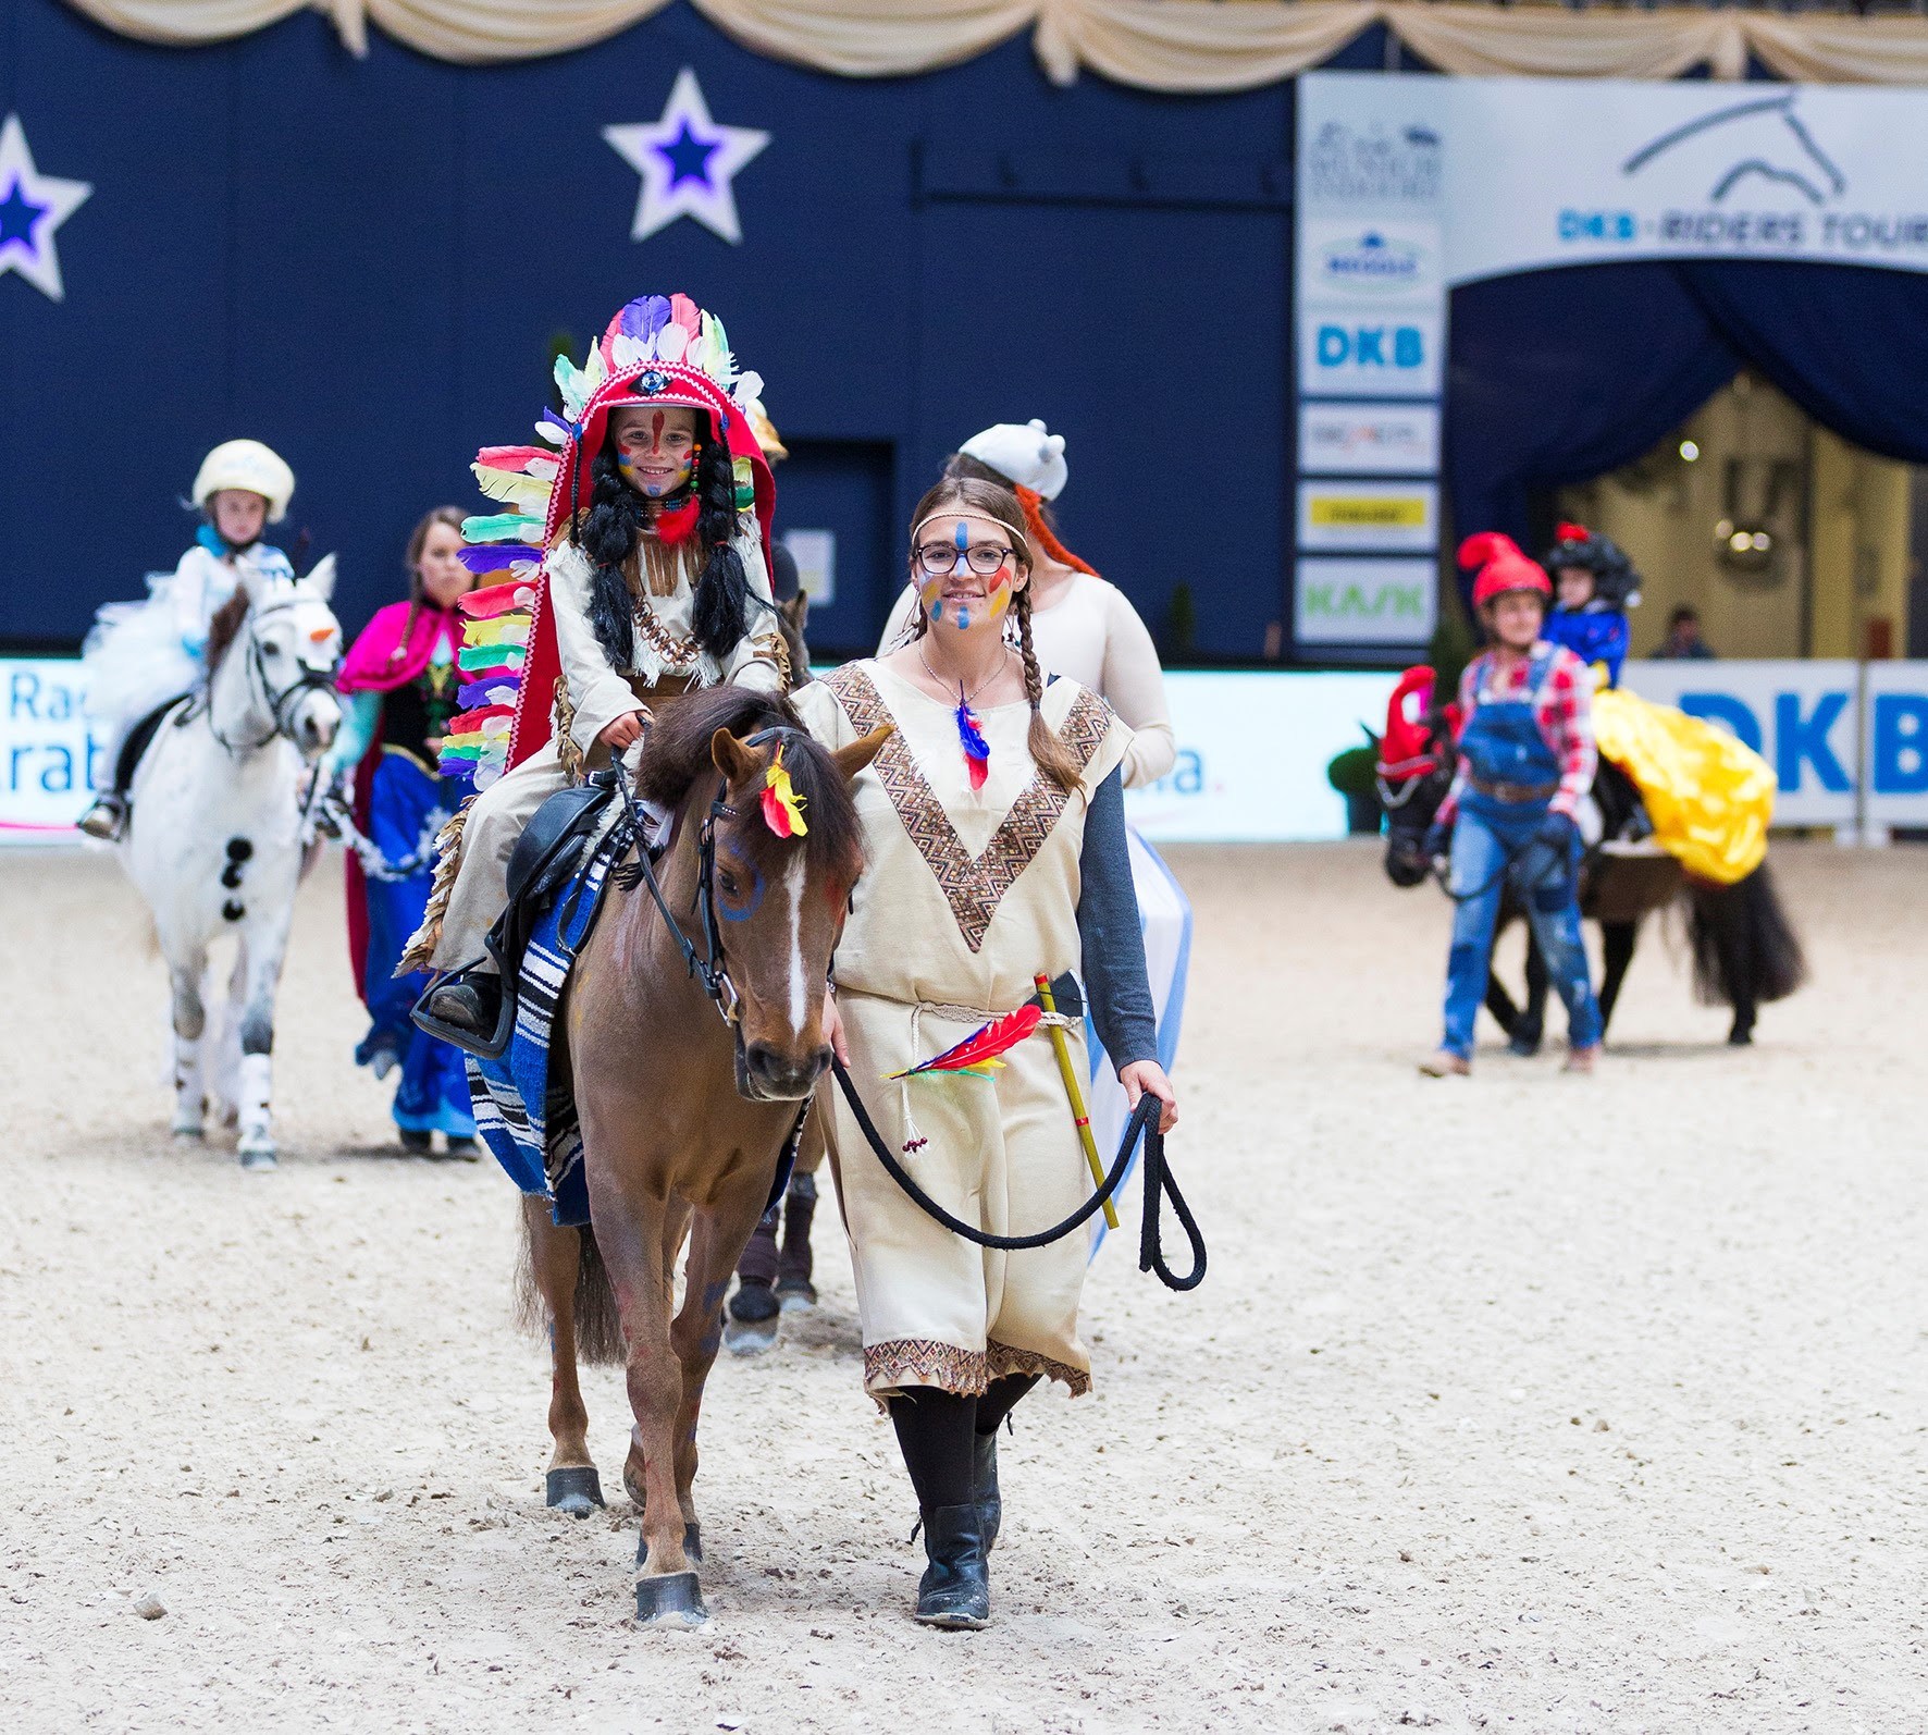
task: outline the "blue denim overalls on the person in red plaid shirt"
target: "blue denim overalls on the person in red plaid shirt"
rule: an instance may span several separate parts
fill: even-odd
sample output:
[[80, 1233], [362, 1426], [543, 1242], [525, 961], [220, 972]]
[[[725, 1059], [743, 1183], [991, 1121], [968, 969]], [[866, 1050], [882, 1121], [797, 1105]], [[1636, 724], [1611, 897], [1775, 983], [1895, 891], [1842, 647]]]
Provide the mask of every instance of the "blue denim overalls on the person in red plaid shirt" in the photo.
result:
[[[1483, 698], [1467, 719], [1459, 754], [1481, 783], [1537, 788], [1560, 781], [1560, 760], [1535, 717], [1552, 661], [1554, 648], [1542, 648], [1527, 669], [1523, 698]], [[1539, 837], [1550, 802], [1550, 792], [1540, 800], [1502, 802], [1473, 785], [1459, 796], [1446, 879], [1459, 904], [1446, 958], [1444, 1047], [1463, 1058], [1473, 1056], [1473, 1020], [1486, 995], [1500, 893], [1508, 881], [1527, 908], [1546, 975], [1567, 1008], [1567, 1043], [1591, 1049], [1600, 1041], [1600, 1004], [1593, 997], [1579, 933], [1579, 833], [1566, 850]]]

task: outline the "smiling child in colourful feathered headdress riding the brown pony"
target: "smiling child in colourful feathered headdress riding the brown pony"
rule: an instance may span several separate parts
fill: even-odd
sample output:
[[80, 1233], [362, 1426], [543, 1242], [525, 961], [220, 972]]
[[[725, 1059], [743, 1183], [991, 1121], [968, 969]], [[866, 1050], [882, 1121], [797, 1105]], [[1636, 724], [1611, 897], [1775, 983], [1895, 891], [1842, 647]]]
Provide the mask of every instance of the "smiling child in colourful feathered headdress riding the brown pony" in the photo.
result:
[[480, 794], [443, 833], [401, 958], [442, 974], [416, 1022], [459, 1045], [503, 1014], [484, 941], [536, 810], [692, 688], [783, 692], [789, 679], [769, 588], [775, 488], [748, 418], [763, 382], [736, 372], [721, 322], [686, 295], [638, 297], [582, 368], [559, 359], [557, 384], [569, 420], [538, 424], [548, 447], [484, 447], [474, 465], [513, 511], [463, 526], [465, 563], [492, 576], [467, 603], [470, 709], [443, 769], [472, 769]]

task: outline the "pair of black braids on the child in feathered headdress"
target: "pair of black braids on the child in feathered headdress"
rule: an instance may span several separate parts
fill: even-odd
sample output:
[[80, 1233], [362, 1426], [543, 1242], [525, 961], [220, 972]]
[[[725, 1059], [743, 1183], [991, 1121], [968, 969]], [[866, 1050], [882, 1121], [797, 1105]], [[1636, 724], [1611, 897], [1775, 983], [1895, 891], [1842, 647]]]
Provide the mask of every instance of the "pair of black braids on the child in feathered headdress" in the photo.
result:
[[[736, 472], [729, 445], [708, 438], [696, 457], [696, 574], [690, 628], [696, 644], [723, 661], [748, 632], [750, 576], [736, 553]], [[629, 563], [650, 524], [650, 503], [623, 480], [605, 443], [590, 461], [590, 505], [576, 520], [576, 544], [588, 555], [590, 628], [617, 669], [636, 661], [636, 596]]]

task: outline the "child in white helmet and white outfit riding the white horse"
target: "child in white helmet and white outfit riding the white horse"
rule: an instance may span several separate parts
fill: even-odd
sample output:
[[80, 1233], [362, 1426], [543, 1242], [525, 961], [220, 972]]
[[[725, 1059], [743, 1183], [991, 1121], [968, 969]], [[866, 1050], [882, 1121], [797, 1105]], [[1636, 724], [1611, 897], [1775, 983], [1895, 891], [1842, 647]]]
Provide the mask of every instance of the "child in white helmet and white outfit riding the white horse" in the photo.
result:
[[[87, 715], [96, 727], [98, 763], [108, 787], [81, 815], [81, 831], [116, 842], [127, 829], [129, 754], [139, 725], [193, 692], [214, 615], [229, 601], [243, 569], [264, 578], [293, 578], [281, 549], [260, 540], [287, 517], [295, 472], [258, 440], [224, 440], [195, 472], [201, 511], [195, 544], [172, 573], [148, 574], [145, 601], [108, 603], [94, 615], [83, 648]], [[147, 736], [148, 731], [139, 731]]]

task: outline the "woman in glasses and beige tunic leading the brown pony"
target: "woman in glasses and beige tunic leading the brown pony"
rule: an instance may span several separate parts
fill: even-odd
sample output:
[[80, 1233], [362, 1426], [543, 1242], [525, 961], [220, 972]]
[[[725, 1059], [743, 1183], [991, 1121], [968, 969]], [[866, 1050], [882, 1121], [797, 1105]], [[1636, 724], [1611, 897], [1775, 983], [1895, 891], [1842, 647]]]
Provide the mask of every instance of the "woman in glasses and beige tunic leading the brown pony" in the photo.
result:
[[[829, 748], [893, 725], [856, 779], [868, 866], [825, 1024], [881, 1137], [949, 1213], [1039, 1230], [1089, 1191], [1035, 983], [1076, 972], [1132, 1101], [1176, 1118], [1157, 1062], [1124, 839], [1132, 733], [1031, 648], [1031, 544], [1008, 490], [941, 482], [912, 519], [922, 627], [796, 694]], [[1016, 648], [1004, 619], [1016, 617]], [[1082, 1020], [1057, 1020], [1074, 1066]], [[985, 1039], [951, 1062], [979, 1026]], [[1087, 1241], [983, 1251], [914, 1205], [835, 1101], [831, 1155], [864, 1330], [924, 1519], [918, 1619], [981, 1627], [1003, 1506], [997, 1425], [1039, 1378], [1091, 1384], [1078, 1336]]]

